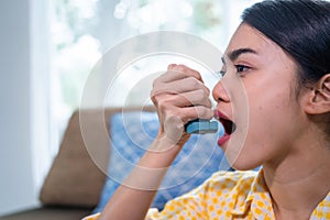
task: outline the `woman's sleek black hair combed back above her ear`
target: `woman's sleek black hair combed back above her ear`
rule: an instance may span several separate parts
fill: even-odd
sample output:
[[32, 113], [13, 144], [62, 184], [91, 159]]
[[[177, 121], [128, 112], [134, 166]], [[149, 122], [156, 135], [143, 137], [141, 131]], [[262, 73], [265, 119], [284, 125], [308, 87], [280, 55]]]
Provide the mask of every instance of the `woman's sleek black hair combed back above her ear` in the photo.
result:
[[300, 86], [330, 73], [330, 2], [266, 0], [246, 9], [242, 20], [297, 62]]

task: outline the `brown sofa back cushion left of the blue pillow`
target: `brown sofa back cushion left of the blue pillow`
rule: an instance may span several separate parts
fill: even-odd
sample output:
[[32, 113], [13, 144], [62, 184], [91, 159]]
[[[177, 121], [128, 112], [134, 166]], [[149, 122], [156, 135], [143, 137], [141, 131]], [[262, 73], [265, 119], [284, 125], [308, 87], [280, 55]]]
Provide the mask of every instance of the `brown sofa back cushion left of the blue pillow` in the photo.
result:
[[[132, 110], [141, 109], [124, 109]], [[143, 110], [154, 109], [146, 107]], [[123, 109], [114, 108], [73, 113], [59, 152], [40, 194], [43, 205], [97, 206], [107, 177], [110, 155], [109, 118], [112, 113], [121, 111]]]

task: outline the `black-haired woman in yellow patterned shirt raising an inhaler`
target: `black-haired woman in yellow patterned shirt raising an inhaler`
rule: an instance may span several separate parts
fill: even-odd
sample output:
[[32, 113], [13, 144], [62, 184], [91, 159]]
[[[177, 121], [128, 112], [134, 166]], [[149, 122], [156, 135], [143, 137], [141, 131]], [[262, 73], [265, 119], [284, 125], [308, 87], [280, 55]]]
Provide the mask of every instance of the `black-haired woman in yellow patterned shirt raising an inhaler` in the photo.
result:
[[[264, 1], [242, 19], [222, 57], [215, 113], [196, 70], [169, 65], [154, 81], [158, 135], [101, 219], [330, 219], [330, 3]], [[162, 212], [148, 209], [189, 139], [184, 124], [213, 116], [226, 127], [219, 145], [246, 172], [217, 173]]]

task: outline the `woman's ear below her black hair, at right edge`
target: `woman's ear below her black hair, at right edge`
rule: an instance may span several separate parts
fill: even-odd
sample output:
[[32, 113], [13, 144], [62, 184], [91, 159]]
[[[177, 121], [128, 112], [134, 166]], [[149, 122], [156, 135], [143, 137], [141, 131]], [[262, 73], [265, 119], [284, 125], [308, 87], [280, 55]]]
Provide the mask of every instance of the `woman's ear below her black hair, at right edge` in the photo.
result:
[[330, 112], [330, 74], [324, 75], [305, 96], [304, 109], [309, 114]]

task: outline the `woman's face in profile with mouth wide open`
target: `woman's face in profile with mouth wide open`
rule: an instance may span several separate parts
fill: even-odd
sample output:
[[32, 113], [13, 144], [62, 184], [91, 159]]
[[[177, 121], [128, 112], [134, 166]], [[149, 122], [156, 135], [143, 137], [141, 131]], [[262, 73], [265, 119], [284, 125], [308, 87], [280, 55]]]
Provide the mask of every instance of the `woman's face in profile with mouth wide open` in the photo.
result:
[[232, 36], [222, 62], [226, 74], [213, 89], [216, 116], [222, 122], [222, 118], [233, 121], [235, 129], [231, 135], [227, 131], [219, 145], [238, 169], [278, 163], [290, 152], [301, 125], [294, 94], [295, 62], [244, 23]]

